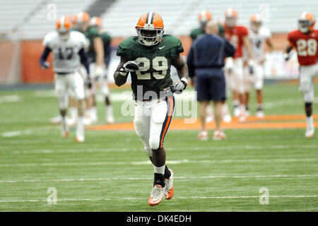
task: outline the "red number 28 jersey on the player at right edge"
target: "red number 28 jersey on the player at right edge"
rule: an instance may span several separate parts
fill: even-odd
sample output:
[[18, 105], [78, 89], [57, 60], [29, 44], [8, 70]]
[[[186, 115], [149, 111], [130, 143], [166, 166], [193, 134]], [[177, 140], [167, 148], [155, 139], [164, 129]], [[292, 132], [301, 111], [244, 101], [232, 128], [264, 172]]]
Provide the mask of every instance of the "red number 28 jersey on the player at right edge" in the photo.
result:
[[304, 34], [300, 30], [294, 30], [288, 34], [290, 45], [295, 47], [300, 65], [316, 64], [318, 60], [318, 30]]

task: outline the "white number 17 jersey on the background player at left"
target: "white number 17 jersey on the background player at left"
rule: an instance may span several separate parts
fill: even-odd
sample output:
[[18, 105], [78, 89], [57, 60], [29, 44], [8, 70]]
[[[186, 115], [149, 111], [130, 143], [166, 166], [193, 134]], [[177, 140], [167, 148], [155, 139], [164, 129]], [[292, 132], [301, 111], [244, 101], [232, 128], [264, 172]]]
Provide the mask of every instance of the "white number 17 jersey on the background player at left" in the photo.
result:
[[64, 41], [59, 37], [57, 31], [45, 35], [43, 45], [49, 47], [53, 52], [53, 71], [72, 73], [81, 66], [78, 52], [88, 47], [88, 41], [83, 33], [71, 30], [69, 39]]

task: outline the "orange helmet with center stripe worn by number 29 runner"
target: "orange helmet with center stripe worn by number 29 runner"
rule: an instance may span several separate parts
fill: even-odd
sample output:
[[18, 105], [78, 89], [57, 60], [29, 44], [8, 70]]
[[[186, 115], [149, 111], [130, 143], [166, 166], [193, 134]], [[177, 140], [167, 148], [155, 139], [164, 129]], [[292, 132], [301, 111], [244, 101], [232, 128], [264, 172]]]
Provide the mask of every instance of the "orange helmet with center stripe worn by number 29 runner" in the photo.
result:
[[163, 19], [158, 13], [143, 13], [135, 28], [138, 40], [143, 45], [153, 46], [163, 38]]

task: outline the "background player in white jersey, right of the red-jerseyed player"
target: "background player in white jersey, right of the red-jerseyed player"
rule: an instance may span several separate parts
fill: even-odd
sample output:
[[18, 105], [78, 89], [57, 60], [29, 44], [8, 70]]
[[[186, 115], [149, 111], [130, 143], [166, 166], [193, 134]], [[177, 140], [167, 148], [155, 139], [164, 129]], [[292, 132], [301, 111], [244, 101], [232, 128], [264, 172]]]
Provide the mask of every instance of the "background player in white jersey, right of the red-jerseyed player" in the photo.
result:
[[[246, 90], [246, 100], [247, 109], [246, 113], [249, 116], [248, 102], [249, 102], [249, 92], [251, 90], [251, 85], [254, 84], [254, 88], [257, 92], [257, 112], [256, 117], [259, 119], [264, 118], [263, 112], [263, 94], [262, 89], [264, 86], [264, 61], [266, 60], [264, 54], [264, 44], [266, 43], [269, 47], [269, 52], [273, 50], [273, 43], [271, 42], [271, 31], [262, 25], [263, 21], [259, 14], [253, 14], [249, 18], [249, 40], [252, 45], [252, 52], [254, 56], [254, 70], [253, 73], [249, 73], [248, 68], [245, 67], [245, 90]], [[246, 50], [246, 49], [244, 49]], [[247, 54], [245, 54], [247, 56]]]

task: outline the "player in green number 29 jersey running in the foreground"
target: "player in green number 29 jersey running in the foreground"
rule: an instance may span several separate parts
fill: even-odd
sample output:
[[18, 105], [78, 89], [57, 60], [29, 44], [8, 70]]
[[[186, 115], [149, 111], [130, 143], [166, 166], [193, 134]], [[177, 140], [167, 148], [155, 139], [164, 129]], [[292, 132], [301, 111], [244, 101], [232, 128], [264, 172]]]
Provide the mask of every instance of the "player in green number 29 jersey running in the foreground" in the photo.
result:
[[[148, 204], [158, 205], [173, 195], [173, 171], [165, 165], [163, 140], [175, 108], [173, 93], [187, 87], [188, 67], [179, 55], [182, 43], [177, 37], [163, 35], [163, 19], [158, 13], [144, 13], [136, 25], [137, 37], [119, 44], [120, 63], [114, 81], [120, 86], [131, 74], [135, 100], [134, 126], [154, 169], [154, 182]], [[170, 67], [175, 66], [180, 81], [172, 85]]]

